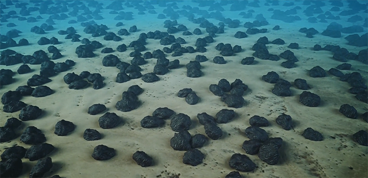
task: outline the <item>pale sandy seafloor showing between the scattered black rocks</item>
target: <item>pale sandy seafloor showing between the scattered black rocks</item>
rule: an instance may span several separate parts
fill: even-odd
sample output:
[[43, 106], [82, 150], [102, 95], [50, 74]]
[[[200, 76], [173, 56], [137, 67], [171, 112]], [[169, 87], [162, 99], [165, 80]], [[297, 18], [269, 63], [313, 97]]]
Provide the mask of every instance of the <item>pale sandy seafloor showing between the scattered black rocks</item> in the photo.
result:
[[[108, 5], [109, 2], [104, 2]], [[262, 3], [261, 3], [262, 4]], [[282, 4], [282, 3], [280, 3]], [[301, 5], [302, 2], [295, 2], [295, 5]], [[197, 4], [184, 1], [179, 2], [178, 7], [182, 5], [191, 5], [195, 7]], [[332, 6], [322, 7], [324, 11], [329, 10]], [[14, 6], [13, 6], [14, 7]], [[12, 8], [13, 8], [12, 7]], [[155, 6], [157, 13], [162, 13], [164, 8]], [[126, 21], [123, 27], [115, 27], [118, 22], [113, 20], [114, 15], [108, 14], [108, 9], [103, 9], [101, 15], [103, 20], [95, 20], [98, 24], [106, 24], [109, 27], [108, 32], [117, 33], [120, 29], [136, 25], [139, 29], [136, 33], [131, 33], [130, 36], [121, 36], [123, 38], [120, 42], [105, 41], [103, 37], [91, 37], [90, 34], [83, 32], [83, 27], [77, 24], [67, 24], [68, 20], [76, 19], [69, 17], [66, 20], [55, 20], [55, 30], [47, 32], [45, 35], [36, 35], [30, 32], [31, 27], [40, 26], [49, 15], [41, 15], [44, 19], [35, 23], [27, 24], [25, 21], [18, 21], [17, 19], [9, 19], [9, 22], [17, 24], [15, 28], [6, 28], [6, 23], [0, 26], [1, 34], [5, 34], [8, 30], [18, 29], [22, 31], [20, 37], [15, 38], [18, 41], [20, 38], [26, 38], [31, 43], [28, 46], [12, 47], [18, 53], [24, 55], [32, 55], [35, 50], [43, 49], [47, 52], [49, 45], [40, 46], [37, 44], [41, 36], [51, 38], [56, 37], [61, 44], [55, 45], [60, 53], [63, 55], [61, 59], [54, 62], [64, 62], [66, 59], [71, 59], [76, 62], [70, 70], [59, 73], [52, 77], [51, 83], [45, 84], [55, 91], [54, 94], [46, 97], [35, 98], [32, 96], [22, 97], [28, 105], [38, 106], [43, 110], [43, 114], [36, 120], [26, 121], [23, 123], [24, 130], [27, 126], [34, 125], [40, 129], [45, 137], [47, 143], [55, 146], [55, 150], [49, 155], [53, 160], [53, 168], [44, 177], [50, 177], [59, 174], [61, 177], [169, 177], [172, 174], [180, 174], [180, 177], [225, 177], [225, 175], [234, 169], [228, 166], [228, 160], [235, 153], [245, 154], [241, 148], [244, 140], [248, 140], [244, 135], [244, 130], [250, 126], [249, 118], [254, 115], [266, 117], [270, 126], [262, 128], [266, 130], [269, 137], [281, 137], [284, 142], [280, 149], [281, 159], [277, 165], [267, 165], [262, 162], [257, 155], [249, 156], [249, 158], [257, 164], [254, 172], [242, 172], [243, 177], [366, 177], [368, 165], [368, 148], [358, 145], [352, 138], [352, 135], [359, 130], [367, 130], [368, 124], [361, 118], [350, 119], [339, 113], [338, 109], [343, 104], [354, 106], [359, 114], [368, 111], [368, 105], [355, 99], [353, 94], [348, 93], [350, 88], [348, 83], [339, 81], [338, 78], [328, 74], [325, 78], [311, 78], [308, 70], [314, 66], [321, 66], [328, 70], [331, 67], [336, 67], [341, 62], [332, 59], [332, 53], [327, 51], [315, 52], [311, 50], [313, 45], [320, 44], [325, 46], [327, 44], [340, 45], [347, 48], [350, 52], [358, 53], [359, 50], [366, 47], [355, 47], [347, 45], [347, 41], [343, 37], [347, 34], [342, 34], [341, 38], [330, 38], [320, 34], [314, 38], [305, 37], [304, 33], [298, 32], [302, 27], [313, 27], [320, 33], [326, 29], [327, 25], [333, 20], [328, 20], [328, 23], [308, 23], [306, 16], [303, 14], [305, 9], [298, 12], [297, 15], [302, 17], [302, 21], [295, 23], [285, 23], [280, 20], [273, 20], [269, 18], [272, 14], [267, 11], [270, 7], [250, 8], [247, 7], [245, 12], [249, 9], [254, 9], [254, 17], [258, 13], [262, 13], [269, 22], [267, 28], [268, 32], [265, 34], [249, 35], [247, 38], [236, 39], [234, 34], [237, 31], [245, 32], [246, 29], [242, 24], [246, 21], [253, 21], [255, 18], [243, 19], [238, 14], [241, 11], [230, 12], [229, 6], [224, 7], [227, 11], [222, 14], [225, 17], [232, 19], [239, 19], [242, 23], [239, 28], [230, 29], [225, 27], [224, 34], [218, 34], [214, 43], [206, 46], [208, 49], [206, 53], [184, 54], [179, 57], [171, 57], [167, 55], [167, 59], [179, 59], [182, 67], [170, 70], [166, 75], [159, 75], [160, 81], [155, 83], [145, 83], [141, 79], [131, 80], [126, 83], [116, 83], [115, 78], [119, 69], [116, 67], [102, 66], [102, 58], [107, 54], [101, 54], [100, 49], [95, 51], [97, 57], [94, 58], [77, 58], [75, 48], [79, 46], [80, 42], [71, 42], [65, 40], [63, 35], [58, 35], [58, 30], [65, 30], [67, 27], [74, 27], [77, 33], [83, 38], [88, 38], [90, 41], [97, 40], [101, 42], [104, 47], [112, 47], [116, 49], [119, 44], [129, 44], [136, 40], [140, 33], [147, 33], [149, 31], [166, 31], [164, 28], [165, 19], [157, 19], [157, 14], [137, 15], [137, 10], [133, 8], [126, 8], [124, 11], [133, 12], [134, 20]], [[286, 10], [287, 7], [272, 7], [274, 9]], [[204, 7], [201, 9], [208, 9]], [[291, 9], [291, 8], [290, 8]], [[4, 9], [8, 12], [10, 9]], [[16, 9], [18, 12], [19, 9]], [[91, 8], [93, 11], [94, 9]], [[343, 10], [343, 8], [341, 8]], [[332, 12], [336, 15], [337, 13]], [[32, 15], [37, 16], [38, 12], [33, 12]], [[367, 14], [360, 14], [367, 15]], [[196, 16], [198, 18], [199, 16]], [[341, 20], [337, 21], [343, 27], [351, 26], [354, 23], [346, 22], [350, 16], [341, 16]], [[219, 21], [209, 19], [215, 25]], [[199, 28], [199, 24], [190, 22], [186, 17], [180, 17], [179, 24], [184, 24], [188, 30], [193, 32], [195, 28]], [[360, 24], [357, 22], [356, 24]], [[275, 25], [281, 27], [278, 31], [273, 31]], [[205, 37], [205, 29], [201, 29], [202, 35], [183, 36], [181, 33], [173, 34], [176, 38], [182, 37], [187, 41], [187, 44], [182, 46], [194, 46], [195, 40], [199, 37]], [[366, 33], [366, 29], [365, 32]], [[276, 38], [284, 39], [285, 45], [268, 44], [268, 49], [271, 54], [281, 54], [287, 50], [287, 45], [296, 42], [300, 45], [300, 49], [290, 49], [298, 58], [297, 67], [287, 69], [281, 66], [280, 61], [260, 60], [256, 58], [256, 63], [253, 65], [240, 65], [240, 61], [245, 57], [250, 57], [253, 53], [251, 46], [256, 43], [257, 39], [266, 36], [270, 41]], [[232, 57], [224, 57], [226, 64], [219, 65], [213, 63], [212, 59], [215, 56], [220, 56], [219, 52], [215, 50], [215, 46], [220, 43], [231, 43], [234, 45], [241, 45], [243, 52], [238, 53]], [[153, 52], [153, 50], [164, 46], [159, 45], [159, 40], [147, 39], [146, 51]], [[124, 53], [115, 51], [112, 53], [120, 58], [121, 61], [130, 62], [132, 59], [129, 53], [133, 49], [128, 48]], [[145, 51], [145, 52], [146, 52]], [[185, 64], [194, 60], [196, 55], [205, 55], [209, 61], [201, 63], [203, 76], [200, 78], [188, 78], [186, 76]], [[142, 73], [152, 72], [156, 59], [147, 60], [148, 63], [141, 66]], [[364, 79], [368, 77], [368, 66], [358, 61], [349, 61], [353, 65], [350, 71], [358, 71], [362, 74]], [[0, 68], [7, 68], [16, 71], [21, 64], [14, 66], [0, 66]], [[26, 85], [27, 80], [33, 74], [39, 74], [40, 65], [30, 65], [31, 73], [15, 74], [16, 82], [11, 85], [0, 88], [0, 93], [8, 90], [15, 90], [18, 86]], [[98, 72], [105, 78], [106, 84], [102, 89], [94, 90], [91, 86], [81, 90], [68, 89], [68, 85], [63, 82], [63, 76], [68, 72], [75, 72], [79, 74], [81, 71], [87, 70], [91, 73]], [[316, 108], [306, 107], [298, 101], [298, 95], [302, 90], [298, 90], [294, 86], [291, 87], [292, 96], [279, 97], [271, 93], [272, 84], [268, 84], [261, 80], [262, 75], [269, 71], [275, 71], [280, 74], [282, 79], [293, 82], [297, 78], [307, 80], [311, 87], [309, 90], [312, 93], [318, 94], [321, 97], [321, 105]], [[228, 108], [219, 97], [215, 96], [209, 91], [211, 84], [217, 84], [220, 79], [226, 79], [233, 82], [235, 79], [241, 79], [248, 85], [249, 89], [244, 94], [246, 104], [239, 109]], [[115, 104], [121, 99], [123, 91], [132, 85], [139, 85], [144, 89], [143, 94], [139, 95], [139, 100], [142, 105], [131, 111], [121, 112], [116, 110]], [[200, 97], [200, 101], [196, 105], [188, 105], [183, 98], [176, 96], [177, 92], [183, 88], [192, 88]], [[99, 115], [87, 114], [87, 109], [93, 104], [104, 104], [108, 109], [105, 112], [117, 113], [123, 118], [124, 124], [117, 128], [104, 130], [98, 125], [98, 119], [104, 113]], [[224, 135], [219, 140], [211, 140], [202, 147], [200, 151], [205, 155], [203, 163], [193, 167], [182, 163], [182, 156], [185, 151], [175, 151], [170, 147], [170, 138], [173, 137], [174, 132], [171, 130], [167, 120], [166, 125], [158, 129], [144, 129], [140, 125], [143, 117], [151, 115], [152, 112], [159, 107], [168, 107], [176, 113], [184, 113], [191, 117], [192, 126], [189, 132], [191, 135], [201, 133], [204, 134], [203, 126], [199, 124], [196, 115], [198, 113], [206, 112], [212, 116], [221, 109], [233, 109], [237, 113], [234, 120], [226, 124], [219, 124], [224, 132]], [[285, 113], [292, 117], [294, 128], [290, 131], [285, 131], [275, 123], [275, 118], [280, 114]], [[4, 113], [0, 112], [0, 125], [4, 125], [6, 119], [10, 117], [18, 118], [19, 112]], [[67, 136], [55, 135], [54, 129], [57, 121], [65, 119], [73, 122], [76, 125], [74, 132]], [[311, 127], [319, 131], [324, 136], [321, 142], [314, 142], [305, 139], [301, 134], [303, 131]], [[96, 129], [102, 135], [102, 139], [98, 141], [85, 141], [83, 139], [83, 132], [85, 129]], [[19, 130], [18, 134], [21, 134]], [[332, 137], [335, 137], [333, 139]], [[116, 156], [107, 161], [96, 161], [91, 157], [93, 149], [99, 144], [104, 144], [108, 147], [116, 149]], [[19, 137], [11, 142], [0, 144], [0, 153], [6, 147], [13, 145], [24, 146], [29, 148], [31, 145], [21, 143]], [[132, 160], [132, 154], [136, 150], [145, 151], [154, 159], [154, 165], [143, 168], [137, 165]], [[22, 159], [24, 163], [24, 173], [19, 177], [28, 177], [29, 171], [36, 164], [36, 161], [30, 162], [27, 159]]]

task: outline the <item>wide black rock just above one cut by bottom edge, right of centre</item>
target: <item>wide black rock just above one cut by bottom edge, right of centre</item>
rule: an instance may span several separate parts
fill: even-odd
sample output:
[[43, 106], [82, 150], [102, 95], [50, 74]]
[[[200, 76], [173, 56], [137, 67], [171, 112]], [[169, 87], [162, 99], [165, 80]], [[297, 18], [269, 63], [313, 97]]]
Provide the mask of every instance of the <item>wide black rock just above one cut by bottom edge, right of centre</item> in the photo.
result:
[[250, 172], [256, 168], [256, 164], [252, 162], [246, 155], [234, 154], [229, 162], [229, 166], [241, 172]]

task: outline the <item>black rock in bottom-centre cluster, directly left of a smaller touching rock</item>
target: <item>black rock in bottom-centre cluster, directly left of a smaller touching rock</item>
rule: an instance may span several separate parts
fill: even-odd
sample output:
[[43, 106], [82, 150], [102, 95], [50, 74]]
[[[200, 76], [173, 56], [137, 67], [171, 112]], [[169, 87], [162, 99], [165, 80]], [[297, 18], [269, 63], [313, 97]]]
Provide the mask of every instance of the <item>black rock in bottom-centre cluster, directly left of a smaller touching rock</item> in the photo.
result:
[[179, 133], [175, 133], [174, 137], [170, 139], [170, 146], [174, 150], [189, 150], [191, 149], [191, 135], [188, 131], [181, 131]]

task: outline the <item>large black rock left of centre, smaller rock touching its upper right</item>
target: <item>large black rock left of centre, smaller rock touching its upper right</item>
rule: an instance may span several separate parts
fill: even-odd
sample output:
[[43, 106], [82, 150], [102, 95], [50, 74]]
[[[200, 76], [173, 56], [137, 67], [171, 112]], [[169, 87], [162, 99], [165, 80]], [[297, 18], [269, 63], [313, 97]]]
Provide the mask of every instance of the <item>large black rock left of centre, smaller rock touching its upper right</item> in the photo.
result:
[[116, 109], [122, 112], [129, 112], [140, 105], [138, 97], [132, 92], [123, 92], [122, 99], [115, 105]]

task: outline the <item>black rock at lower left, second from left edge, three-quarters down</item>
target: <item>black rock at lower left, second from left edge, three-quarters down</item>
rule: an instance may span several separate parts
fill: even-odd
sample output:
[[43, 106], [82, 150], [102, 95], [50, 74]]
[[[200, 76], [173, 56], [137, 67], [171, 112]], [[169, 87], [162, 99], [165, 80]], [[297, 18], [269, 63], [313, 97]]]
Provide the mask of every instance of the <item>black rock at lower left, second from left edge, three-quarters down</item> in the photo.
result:
[[26, 144], [36, 145], [45, 142], [46, 138], [41, 130], [37, 129], [35, 126], [29, 126], [20, 136], [20, 141]]

